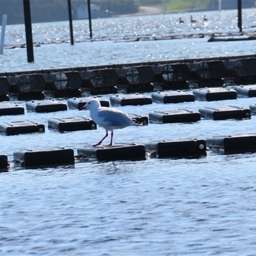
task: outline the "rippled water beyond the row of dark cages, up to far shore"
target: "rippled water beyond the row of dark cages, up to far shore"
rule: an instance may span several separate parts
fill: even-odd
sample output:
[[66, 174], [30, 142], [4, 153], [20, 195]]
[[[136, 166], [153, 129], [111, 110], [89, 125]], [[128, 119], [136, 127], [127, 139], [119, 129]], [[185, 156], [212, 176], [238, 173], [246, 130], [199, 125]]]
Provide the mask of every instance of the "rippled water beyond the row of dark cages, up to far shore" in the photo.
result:
[[[243, 10], [243, 31], [253, 35], [256, 25], [256, 9]], [[197, 22], [189, 22], [190, 15]], [[203, 21], [204, 14], [207, 22]], [[179, 17], [184, 24], [179, 23]], [[13, 45], [26, 44], [24, 25], [6, 27], [4, 54], [0, 58], [1, 72], [40, 70], [45, 68], [83, 67], [163, 61], [211, 56], [233, 56], [255, 53], [254, 40], [246, 42], [211, 42], [216, 35], [238, 35], [237, 11], [174, 13], [141, 17], [93, 19], [93, 42], [90, 40], [88, 22], [75, 20], [74, 45], [70, 45], [67, 22], [33, 24], [35, 63], [27, 63], [26, 48], [9, 49]], [[179, 40], [154, 40], [164, 36], [198, 35], [204, 38]], [[230, 37], [229, 36], [229, 37]], [[146, 40], [136, 41], [138, 38]], [[61, 44], [61, 42], [67, 42]], [[54, 44], [51, 44], [54, 43]]]

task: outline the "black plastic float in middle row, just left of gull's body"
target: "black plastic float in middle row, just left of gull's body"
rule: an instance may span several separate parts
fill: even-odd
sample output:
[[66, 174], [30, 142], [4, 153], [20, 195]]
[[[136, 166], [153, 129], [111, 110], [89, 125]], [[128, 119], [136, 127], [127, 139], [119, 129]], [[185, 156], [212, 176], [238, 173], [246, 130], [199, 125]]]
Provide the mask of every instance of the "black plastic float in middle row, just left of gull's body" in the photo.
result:
[[97, 129], [97, 125], [92, 119], [83, 116], [50, 118], [48, 120], [48, 127], [60, 132]]

